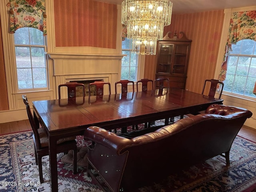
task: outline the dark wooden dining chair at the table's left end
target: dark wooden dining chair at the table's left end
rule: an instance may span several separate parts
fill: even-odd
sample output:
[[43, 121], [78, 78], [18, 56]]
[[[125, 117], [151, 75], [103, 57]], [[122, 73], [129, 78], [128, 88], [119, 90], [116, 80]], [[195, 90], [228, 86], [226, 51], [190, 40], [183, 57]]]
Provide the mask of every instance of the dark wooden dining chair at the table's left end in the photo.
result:
[[[30, 110], [30, 105], [28, 104], [28, 99], [26, 95], [22, 95], [22, 99], [24, 104], [26, 105], [26, 111], [28, 114], [28, 120], [33, 130], [33, 140], [34, 140], [34, 150], [35, 150], [35, 158], [36, 165], [39, 168], [39, 178], [40, 182], [44, 182], [43, 171], [42, 171], [42, 157], [49, 155], [48, 148], [48, 136], [44, 130], [44, 128], [37, 128], [34, 117], [32, 116], [32, 112]], [[73, 150], [73, 173], [77, 173], [77, 148], [76, 148], [76, 136], [62, 138], [57, 141], [56, 150], [57, 153], [68, 152], [68, 150]], [[57, 155], [57, 154], [56, 154]]]

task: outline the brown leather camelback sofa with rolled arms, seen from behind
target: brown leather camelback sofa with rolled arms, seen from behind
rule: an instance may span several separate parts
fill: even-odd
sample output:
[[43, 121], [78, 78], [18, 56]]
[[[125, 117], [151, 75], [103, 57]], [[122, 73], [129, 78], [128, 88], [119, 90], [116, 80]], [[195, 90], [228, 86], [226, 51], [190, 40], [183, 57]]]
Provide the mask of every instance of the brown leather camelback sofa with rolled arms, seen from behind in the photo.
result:
[[[206, 114], [178, 120], [174, 124], [132, 139], [95, 126], [84, 132], [88, 146], [87, 174], [101, 176], [114, 192], [157, 181], [185, 166], [229, 152], [234, 138], [252, 112], [233, 106], [211, 105]], [[98, 183], [99, 184], [99, 183]], [[102, 190], [104, 186], [101, 184]]]

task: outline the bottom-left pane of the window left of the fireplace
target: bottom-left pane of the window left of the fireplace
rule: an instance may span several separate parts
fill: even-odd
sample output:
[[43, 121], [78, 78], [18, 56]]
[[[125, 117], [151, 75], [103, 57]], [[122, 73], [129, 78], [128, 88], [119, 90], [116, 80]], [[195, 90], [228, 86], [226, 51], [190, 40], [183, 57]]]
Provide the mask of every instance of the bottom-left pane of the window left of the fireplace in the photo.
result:
[[19, 89], [33, 88], [31, 68], [17, 69], [17, 74], [18, 74], [18, 88]]

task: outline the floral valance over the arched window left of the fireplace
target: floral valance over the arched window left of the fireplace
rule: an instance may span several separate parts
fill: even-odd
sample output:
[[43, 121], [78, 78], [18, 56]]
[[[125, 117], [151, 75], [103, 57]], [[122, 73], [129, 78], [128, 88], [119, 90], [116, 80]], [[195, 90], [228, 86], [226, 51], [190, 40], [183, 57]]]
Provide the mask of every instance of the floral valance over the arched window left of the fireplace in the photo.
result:
[[10, 0], [10, 33], [18, 28], [39, 29], [46, 36], [45, 0]]

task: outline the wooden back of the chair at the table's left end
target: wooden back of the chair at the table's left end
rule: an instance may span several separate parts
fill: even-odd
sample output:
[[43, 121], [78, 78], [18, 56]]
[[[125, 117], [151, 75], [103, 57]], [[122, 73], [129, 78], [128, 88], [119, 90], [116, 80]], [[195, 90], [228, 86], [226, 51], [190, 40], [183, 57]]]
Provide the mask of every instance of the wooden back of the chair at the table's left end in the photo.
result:
[[38, 133], [38, 130], [37, 130], [37, 127], [36, 127], [36, 122], [34, 120], [34, 117], [33, 117], [32, 113], [31, 113], [30, 106], [28, 104], [28, 98], [27, 98], [26, 95], [22, 95], [22, 99], [23, 99], [24, 104], [26, 105], [28, 120], [29, 120], [30, 125], [32, 127], [32, 130], [34, 132], [36, 148], [40, 149], [41, 148], [40, 137], [39, 137], [39, 133]]

